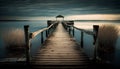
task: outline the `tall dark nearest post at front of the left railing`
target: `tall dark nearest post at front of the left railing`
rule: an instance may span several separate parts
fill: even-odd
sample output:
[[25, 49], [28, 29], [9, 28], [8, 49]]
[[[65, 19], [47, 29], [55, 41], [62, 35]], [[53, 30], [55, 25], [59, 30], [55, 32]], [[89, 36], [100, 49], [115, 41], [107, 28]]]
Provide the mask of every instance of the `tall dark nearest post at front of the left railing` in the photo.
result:
[[30, 42], [29, 42], [29, 25], [24, 26], [25, 43], [26, 43], [26, 63], [30, 63]]

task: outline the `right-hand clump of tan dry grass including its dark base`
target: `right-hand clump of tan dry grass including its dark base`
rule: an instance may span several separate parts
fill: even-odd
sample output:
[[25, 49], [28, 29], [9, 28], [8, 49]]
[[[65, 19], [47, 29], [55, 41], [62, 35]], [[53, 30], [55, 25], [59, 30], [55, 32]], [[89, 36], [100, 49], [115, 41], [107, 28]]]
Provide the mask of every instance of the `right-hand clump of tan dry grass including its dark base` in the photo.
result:
[[101, 25], [98, 32], [97, 54], [102, 62], [112, 62], [119, 29], [114, 25]]

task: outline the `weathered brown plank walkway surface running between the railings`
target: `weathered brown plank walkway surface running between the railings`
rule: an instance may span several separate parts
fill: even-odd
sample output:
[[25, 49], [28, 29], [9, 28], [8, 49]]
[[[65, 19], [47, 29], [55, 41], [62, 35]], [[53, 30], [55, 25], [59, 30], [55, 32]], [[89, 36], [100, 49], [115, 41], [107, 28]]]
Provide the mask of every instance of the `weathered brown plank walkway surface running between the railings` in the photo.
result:
[[90, 63], [75, 39], [69, 35], [61, 23], [31, 61], [33, 67], [42, 66], [43, 68], [46, 67], [45, 65], [84, 68], [88, 67]]

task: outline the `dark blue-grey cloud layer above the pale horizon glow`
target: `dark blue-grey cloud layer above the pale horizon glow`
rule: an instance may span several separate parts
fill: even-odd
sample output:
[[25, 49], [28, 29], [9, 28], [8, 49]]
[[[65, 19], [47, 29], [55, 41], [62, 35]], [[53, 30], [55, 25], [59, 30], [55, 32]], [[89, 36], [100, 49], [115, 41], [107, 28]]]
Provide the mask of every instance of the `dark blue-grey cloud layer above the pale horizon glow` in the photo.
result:
[[120, 14], [120, 0], [0, 0], [0, 16]]

